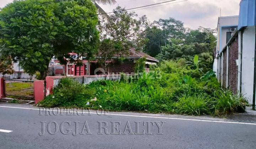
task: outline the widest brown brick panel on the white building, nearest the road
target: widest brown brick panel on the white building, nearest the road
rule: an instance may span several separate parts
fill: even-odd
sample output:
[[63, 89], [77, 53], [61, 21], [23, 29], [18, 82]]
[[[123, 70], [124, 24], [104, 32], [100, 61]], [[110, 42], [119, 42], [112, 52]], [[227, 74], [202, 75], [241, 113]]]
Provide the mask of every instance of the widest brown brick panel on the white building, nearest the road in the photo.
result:
[[237, 59], [238, 59], [238, 40], [234, 40], [229, 47], [229, 86], [234, 94], [237, 93], [237, 85], [238, 85], [238, 66], [236, 66]]

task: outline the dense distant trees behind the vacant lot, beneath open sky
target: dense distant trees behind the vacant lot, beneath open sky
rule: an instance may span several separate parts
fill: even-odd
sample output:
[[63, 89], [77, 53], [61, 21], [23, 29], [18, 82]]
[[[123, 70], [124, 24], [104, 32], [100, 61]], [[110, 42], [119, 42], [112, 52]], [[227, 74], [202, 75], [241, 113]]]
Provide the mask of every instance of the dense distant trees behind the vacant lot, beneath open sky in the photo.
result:
[[185, 28], [183, 22], [174, 18], [159, 19], [147, 26], [144, 51], [156, 59], [191, 61], [194, 55], [202, 55], [206, 67], [212, 68], [213, 50], [216, 46], [215, 30], [199, 27]]

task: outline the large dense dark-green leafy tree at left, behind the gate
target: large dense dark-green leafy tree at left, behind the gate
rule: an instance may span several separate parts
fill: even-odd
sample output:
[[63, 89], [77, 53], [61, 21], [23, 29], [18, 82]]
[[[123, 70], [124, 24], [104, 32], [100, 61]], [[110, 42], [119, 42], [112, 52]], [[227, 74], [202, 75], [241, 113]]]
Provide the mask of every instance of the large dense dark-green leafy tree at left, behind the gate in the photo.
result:
[[0, 11], [0, 52], [45, 79], [52, 56], [65, 60], [97, 52], [96, 14], [91, 0], [14, 0]]

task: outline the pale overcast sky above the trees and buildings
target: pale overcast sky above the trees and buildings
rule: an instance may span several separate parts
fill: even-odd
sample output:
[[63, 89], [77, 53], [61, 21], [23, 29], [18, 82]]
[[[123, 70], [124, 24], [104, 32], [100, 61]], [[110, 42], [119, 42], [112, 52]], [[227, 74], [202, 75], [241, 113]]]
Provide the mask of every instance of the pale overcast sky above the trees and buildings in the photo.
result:
[[[106, 12], [111, 12], [116, 6], [130, 9], [144, 5], [155, 4], [168, 0], [116, 0], [117, 4], [112, 6], [102, 6]], [[177, 0], [165, 3], [164, 5], [150, 9], [135, 11], [139, 16], [146, 15], [150, 21], [158, 20], [159, 18], [174, 17], [177, 20], [184, 22], [186, 27], [196, 29], [199, 26], [216, 28], [218, 17], [239, 15], [240, 0]], [[4, 7], [12, 0], [0, 0], [0, 7]]]

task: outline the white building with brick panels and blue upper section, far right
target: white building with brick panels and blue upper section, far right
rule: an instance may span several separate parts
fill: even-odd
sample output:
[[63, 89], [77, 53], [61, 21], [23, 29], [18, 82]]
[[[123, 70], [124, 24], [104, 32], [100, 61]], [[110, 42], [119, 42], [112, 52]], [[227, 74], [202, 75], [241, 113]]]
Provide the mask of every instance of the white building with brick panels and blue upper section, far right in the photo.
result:
[[[255, 107], [256, 0], [241, 0], [239, 17], [220, 17], [214, 71], [223, 87], [243, 94]], [[231, 33], [229, 33], [231, 32]]]

